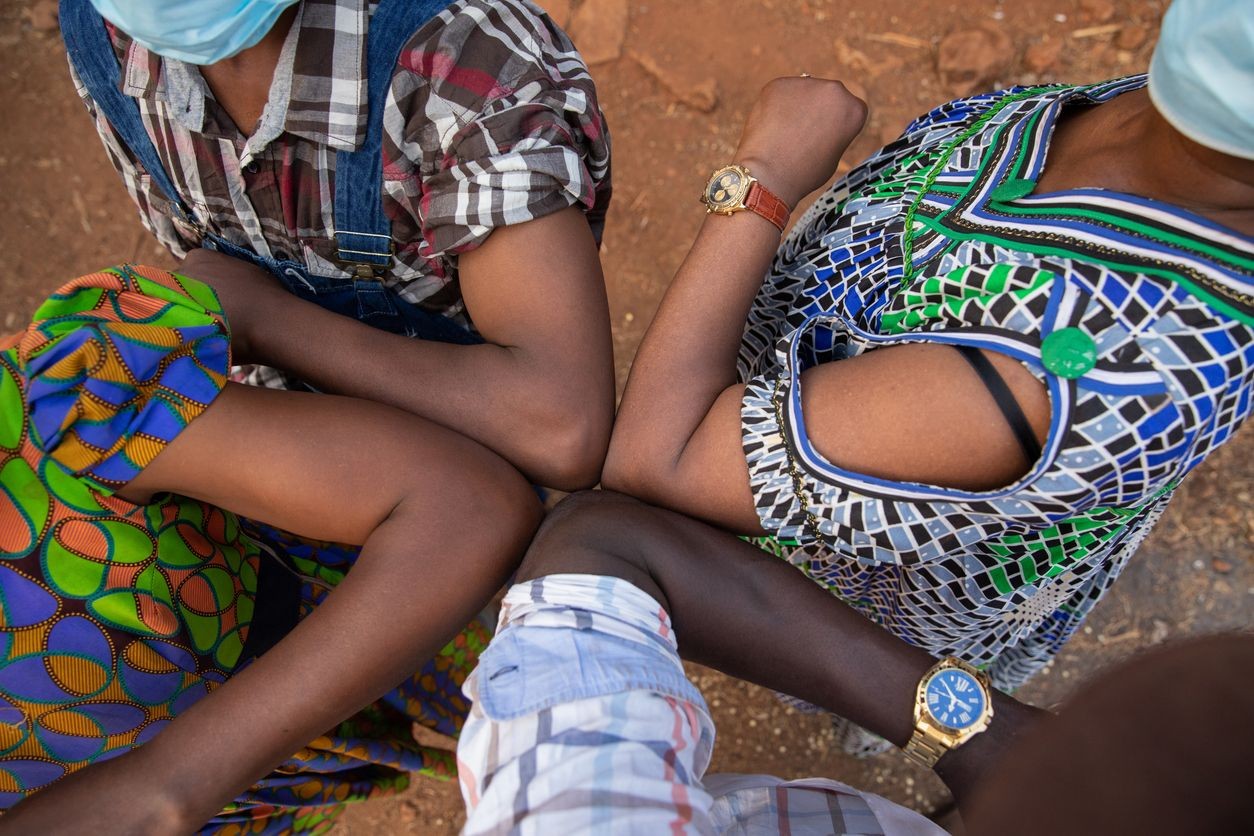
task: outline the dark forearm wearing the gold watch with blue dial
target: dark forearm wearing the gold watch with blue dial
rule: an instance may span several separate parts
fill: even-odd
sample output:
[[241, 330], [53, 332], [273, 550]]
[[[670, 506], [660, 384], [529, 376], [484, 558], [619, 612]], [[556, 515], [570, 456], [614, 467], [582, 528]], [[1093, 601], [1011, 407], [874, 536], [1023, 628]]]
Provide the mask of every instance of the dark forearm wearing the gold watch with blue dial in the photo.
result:
[[[914, 694], [935, 659], [834, 598], [794, 567], [721, 533], [722, 548], [686, 560], [650, 554], [670, 602], [681, 653], [799, 697], [900, 747], [914, 729]], [[999, 691], [988, 731], [946, 755], [937, 773], [958, 803], [1009, 742], [1040, 716]]]

